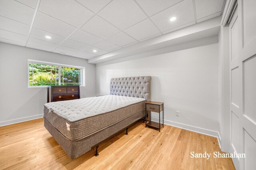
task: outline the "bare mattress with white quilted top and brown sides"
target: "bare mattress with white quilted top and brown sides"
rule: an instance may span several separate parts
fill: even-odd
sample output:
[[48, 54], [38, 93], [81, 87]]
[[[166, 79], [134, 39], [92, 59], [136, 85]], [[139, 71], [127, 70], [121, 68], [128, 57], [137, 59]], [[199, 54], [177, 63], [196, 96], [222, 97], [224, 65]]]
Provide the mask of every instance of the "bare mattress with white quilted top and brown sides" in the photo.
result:
[[77, 141], [144, 109], [143, 98], [107, 95], [47, 103], [44, 118], [67, 139]]

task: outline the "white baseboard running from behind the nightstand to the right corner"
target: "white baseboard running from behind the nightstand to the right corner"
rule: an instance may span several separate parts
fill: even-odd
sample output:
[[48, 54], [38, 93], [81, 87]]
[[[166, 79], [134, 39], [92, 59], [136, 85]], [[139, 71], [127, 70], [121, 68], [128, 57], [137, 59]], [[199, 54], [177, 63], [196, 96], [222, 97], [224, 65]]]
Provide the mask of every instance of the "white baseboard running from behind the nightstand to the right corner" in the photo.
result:
[[[159, 117], [151, 117], [151, 121], [154, 122], [159, 122]], [[162, 123], [162, 119], [160, 119], [160, 122]], [[181, 129], [185, 129], [188, 131], [192, 131], [192, 132], [196, 132], [196, 133], [201, 133], [204, 135], [208, 135], [211, 137], [216, 137], [218, 139], [218, 143], [220, 146], [220, 134], [216, 131], [212, 131], [209, 129], [204, 129], [204, 128], [200, 128], [200, 127], [195, 127], [195, 126], [191, 126], [191, 125], [186, 125], [186, 124], [182, 124], [182, 123], [178, 123], [178, 122], [174, 122], [174, 121], [169, 121], [169, 120], [164, 120], [164, 124], [165, 125], [170, 125], [170, 126], [174, 126], [174, 127], [178, 127]]]

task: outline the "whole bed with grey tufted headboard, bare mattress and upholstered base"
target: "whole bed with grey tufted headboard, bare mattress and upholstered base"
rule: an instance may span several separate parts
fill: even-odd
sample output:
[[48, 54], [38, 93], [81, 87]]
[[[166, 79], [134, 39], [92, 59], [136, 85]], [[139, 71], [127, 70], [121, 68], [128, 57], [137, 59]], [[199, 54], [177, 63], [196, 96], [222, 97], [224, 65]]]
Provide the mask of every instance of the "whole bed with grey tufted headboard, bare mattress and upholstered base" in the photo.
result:
[[77, 158], [144, 119], [150, 84], [150, 76], [112, 78], [110, 95], [47, 103], [44, 127], [70, 158]]

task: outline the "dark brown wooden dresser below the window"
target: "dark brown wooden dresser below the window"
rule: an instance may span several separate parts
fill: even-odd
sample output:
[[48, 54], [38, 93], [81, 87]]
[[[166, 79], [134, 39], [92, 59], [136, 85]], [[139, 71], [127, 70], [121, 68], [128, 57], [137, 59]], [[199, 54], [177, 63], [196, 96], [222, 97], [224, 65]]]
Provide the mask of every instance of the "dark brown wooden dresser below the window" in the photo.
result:
[[48, 103], [80, 99], [80, 86], [48, 86]]

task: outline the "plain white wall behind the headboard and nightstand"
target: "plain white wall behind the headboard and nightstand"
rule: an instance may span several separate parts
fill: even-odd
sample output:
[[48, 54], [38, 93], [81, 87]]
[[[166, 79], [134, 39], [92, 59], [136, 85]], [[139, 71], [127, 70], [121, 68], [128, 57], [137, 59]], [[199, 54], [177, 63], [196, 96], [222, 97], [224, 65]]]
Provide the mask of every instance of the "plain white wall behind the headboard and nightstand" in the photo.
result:
[[151, 100], [164, 102], [167, 124], [218, 135], [218, 36], [96, 64], [96, 94], [126, 76], [152, 76]]

